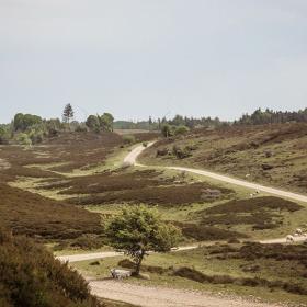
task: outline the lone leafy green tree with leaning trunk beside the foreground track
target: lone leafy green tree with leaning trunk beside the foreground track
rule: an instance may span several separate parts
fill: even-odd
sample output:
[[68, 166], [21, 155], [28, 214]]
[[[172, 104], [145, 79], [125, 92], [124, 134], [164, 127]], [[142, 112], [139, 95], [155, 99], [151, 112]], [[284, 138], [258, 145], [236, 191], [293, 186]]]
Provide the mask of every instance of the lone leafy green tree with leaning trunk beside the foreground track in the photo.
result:
[[162, 221], [157, 209], [145, 206], [125, 207], [106, 226], [110, 245], [132, 257], [139, 275], [141, 261], [148, 251], [168, 252], [175, 247], [181, 231]]

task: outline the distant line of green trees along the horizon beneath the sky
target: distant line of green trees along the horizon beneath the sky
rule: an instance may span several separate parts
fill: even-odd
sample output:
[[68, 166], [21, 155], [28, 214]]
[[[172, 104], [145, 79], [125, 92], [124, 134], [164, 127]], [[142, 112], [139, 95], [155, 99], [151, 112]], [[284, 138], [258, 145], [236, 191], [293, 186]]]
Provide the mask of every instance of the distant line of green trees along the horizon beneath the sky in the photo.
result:
[[19, 144], [32, 145], [41, 143], [45, 137], [55, 137], [65, 130], [71, 132], [113, 132], [113, 129], [143, 129], [161, 132], [164, 137], [185, 134], [194, 128], [217, 128], [230, 125], [263, 125], [282, 124], [288, 122], [307, 123], [307, 107], [299, 111], [273, 111], [266, 109], [255, 110], [252, 114], [243, 114], [235, 122], [220, 121], [218, 117], [187, 117], [175, 115], [173, 118], [166, 117], [148, 121], [116, 121], [111, 113], [95, 114], [88, 116], [84, 123], [73, 120], [75, 112], [70, 103], [66, 104], [62, 111], [62, 121], [59, 118], [44, 120], [33, 114], [15, 114], [11, 124], [0, 124], [0, 144], [15, 140]]

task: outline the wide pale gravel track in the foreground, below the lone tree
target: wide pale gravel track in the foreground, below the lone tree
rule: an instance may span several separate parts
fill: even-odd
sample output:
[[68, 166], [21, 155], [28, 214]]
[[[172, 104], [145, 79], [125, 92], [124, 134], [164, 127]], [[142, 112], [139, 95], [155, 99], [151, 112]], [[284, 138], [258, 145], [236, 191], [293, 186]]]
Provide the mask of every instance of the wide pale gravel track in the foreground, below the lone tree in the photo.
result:
[[201, 292], [140, 286], [121, 281], [90, 281], [92, 294], [143, 307], [278, 307], [282, 305], [249, 302]]

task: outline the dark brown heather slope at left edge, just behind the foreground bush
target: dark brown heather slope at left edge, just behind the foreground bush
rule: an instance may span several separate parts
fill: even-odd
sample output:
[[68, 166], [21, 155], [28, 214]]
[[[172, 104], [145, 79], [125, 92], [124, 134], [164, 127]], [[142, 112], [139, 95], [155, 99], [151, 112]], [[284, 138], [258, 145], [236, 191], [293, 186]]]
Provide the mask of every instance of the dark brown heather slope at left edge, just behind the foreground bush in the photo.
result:
[[64, 202], [45, 198], [0, 183], [0, 223], [14, 234], [45, 239], [73, 239], [102, 234], [98, 214]]

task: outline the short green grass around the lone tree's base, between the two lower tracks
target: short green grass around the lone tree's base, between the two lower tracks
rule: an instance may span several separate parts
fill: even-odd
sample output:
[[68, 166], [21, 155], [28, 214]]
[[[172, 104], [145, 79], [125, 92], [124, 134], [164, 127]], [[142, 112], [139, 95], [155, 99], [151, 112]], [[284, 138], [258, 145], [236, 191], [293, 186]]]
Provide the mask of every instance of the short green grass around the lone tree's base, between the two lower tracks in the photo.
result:
[[[98, 278], [110, 277], [110, 270], [118, 268], [118, 261], [125, 259], [124, 257], [109, 258], [100, 260], [100, 265], [90, 265], [93, 261], [82, 261], [73, 263], [73, 266], [83, 272], [86, 275], [91, 275]], [[254, 277], [260, 276], [268, 280], [285, 280], [288, 282], [302, 282], [306, 284], [306, 280], [299, 278], [295, 271], [292, 271], [288, 262], [278, 262], [274, 260], [260, 259], [254, 261], [261, 266], [259, 273], [242, 272], [240, 265], [247, 264], [248, 261], [241, 259], [218, 260], [209, 259], [204, 255], [203, 249], [172, 252], [167, 254], [151, 254], [144, 261], [145, 265], [161, 266], [168, 269], [189, 266], [208, 275], [231, 275], [234, 277]], [[148, 274], [147, 272], [145, 272]], [[202, 284], [191, 280], [169, 274], [155, 274], [149, 273], [150, 281], [141, 281], [130, 278], [127, 283], [136, 283], [140, 285], [159, 285], [171, 288], [197, 289], [204, 292], [223, 293], [223, 294], [237, 294], [239, 296], [254, 296], [261, 297], [263, 300], [269, 302], [291, 302], [291, 303], [306, 303], [306, 296], [294, 295], [285, 291], [274, 289], [270, 291], [264, 287], [247, 287], [238, 286], [235, 284]], [[307, 284], [306, 284], [307, 285]]]

